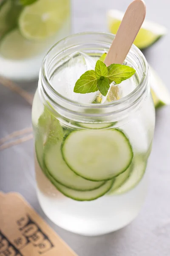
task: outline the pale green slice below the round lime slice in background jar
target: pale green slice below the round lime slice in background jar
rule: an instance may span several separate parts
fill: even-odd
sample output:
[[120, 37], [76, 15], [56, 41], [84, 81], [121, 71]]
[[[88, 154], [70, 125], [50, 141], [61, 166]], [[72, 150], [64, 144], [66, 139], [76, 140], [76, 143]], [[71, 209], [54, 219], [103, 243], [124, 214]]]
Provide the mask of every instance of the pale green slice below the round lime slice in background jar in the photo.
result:
[[20, 60], [39, 55], [45, 49], [45, 44], [28, 41], [18, 29], [4, 36], [0, 43], [0, 55], [7, 59]]

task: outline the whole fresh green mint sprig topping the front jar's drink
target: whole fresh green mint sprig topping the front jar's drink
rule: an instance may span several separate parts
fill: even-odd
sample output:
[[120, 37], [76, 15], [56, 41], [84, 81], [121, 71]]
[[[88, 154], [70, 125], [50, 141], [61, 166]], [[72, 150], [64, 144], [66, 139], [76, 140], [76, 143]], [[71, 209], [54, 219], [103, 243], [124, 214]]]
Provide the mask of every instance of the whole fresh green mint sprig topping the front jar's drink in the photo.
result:
[[120, 84], [135, 72], [132, 67], [121, 64], [111, 64], [106, 67], [104, 62], [98, 60], [95, 70], [88, 70], [80, 76], [74, 86], [74, 92], [92, 93], [99, 90], [103, 96], [106, 96], [112, 82]]

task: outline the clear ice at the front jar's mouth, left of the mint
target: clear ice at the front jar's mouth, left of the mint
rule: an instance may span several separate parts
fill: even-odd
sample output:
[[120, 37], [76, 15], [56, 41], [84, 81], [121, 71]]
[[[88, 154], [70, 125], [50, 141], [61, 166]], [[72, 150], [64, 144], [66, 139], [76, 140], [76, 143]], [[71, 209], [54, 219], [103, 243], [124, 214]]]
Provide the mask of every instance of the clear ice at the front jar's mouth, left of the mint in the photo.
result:
[[54, 89], [68, 99], [80, 103], [92, 103], [95, 93], [74, 93], [74, 86], [80, 76], [87, 70], [94, 70], [96, 60], [84, 52], [75, 52], [52, 77]]

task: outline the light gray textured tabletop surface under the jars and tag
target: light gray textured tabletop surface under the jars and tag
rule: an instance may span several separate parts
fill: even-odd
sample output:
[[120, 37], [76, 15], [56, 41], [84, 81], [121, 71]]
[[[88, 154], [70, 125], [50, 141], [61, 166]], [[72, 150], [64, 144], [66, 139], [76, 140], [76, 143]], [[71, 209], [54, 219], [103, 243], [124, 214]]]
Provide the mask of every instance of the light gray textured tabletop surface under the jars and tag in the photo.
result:
[[[105, 11], [125, 11], [128, 0], [74, 0], [74, 32], [107, 31]], [[170, 2], [146, 0], [147, 18], [170, 29]], [[147, 60], [169, 84], [170, 34], [145, 52]], [[21, 84], [30, 92], [36, 82]], [[150, 156], [150, 189], [139, 216], [127, 227], [99, 237], [83, 237], [55, 226], [42, 212], [35, 193], [33, 141], [0, 151], [0, 190], [20, 192], [79, 256], [170, 255], [170, 107], [156, 113], [156, 131]], [[31, 107], [0, 85], [0, 138], [31, 126]]]

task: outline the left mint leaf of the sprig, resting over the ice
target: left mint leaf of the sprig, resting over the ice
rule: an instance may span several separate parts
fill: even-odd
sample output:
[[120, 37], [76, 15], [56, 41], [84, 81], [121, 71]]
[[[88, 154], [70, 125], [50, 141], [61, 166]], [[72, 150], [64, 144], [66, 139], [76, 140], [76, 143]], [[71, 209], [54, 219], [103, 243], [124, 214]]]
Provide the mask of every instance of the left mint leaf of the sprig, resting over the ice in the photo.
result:
[[75, 93], [94, 93], [97, 90], [97, 78], [94, 70], [88, 70], [82, 74], [74, 86]]

